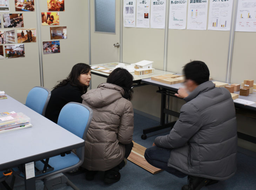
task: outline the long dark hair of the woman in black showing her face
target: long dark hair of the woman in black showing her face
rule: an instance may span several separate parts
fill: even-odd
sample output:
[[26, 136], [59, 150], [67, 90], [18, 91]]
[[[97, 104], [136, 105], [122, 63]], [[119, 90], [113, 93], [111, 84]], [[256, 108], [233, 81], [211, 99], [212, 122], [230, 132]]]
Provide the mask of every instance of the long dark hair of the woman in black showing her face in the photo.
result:
[[62, 86], [65, 86], [67, 83], [69, 83], [72, 86], [77, 86], [81, 93], [86, 93], [88, 86], [83, 86], [79, 80], [78, 77], [81, 74], [86, 74], [90, 71], [91, 67], [85, 63], [77, 63], [72, 67], [71, 72], [69, 73], [68, 77], [62, 81], [59, 81], [59, 84], [57, 84], [53, 89], [59, 88]]

